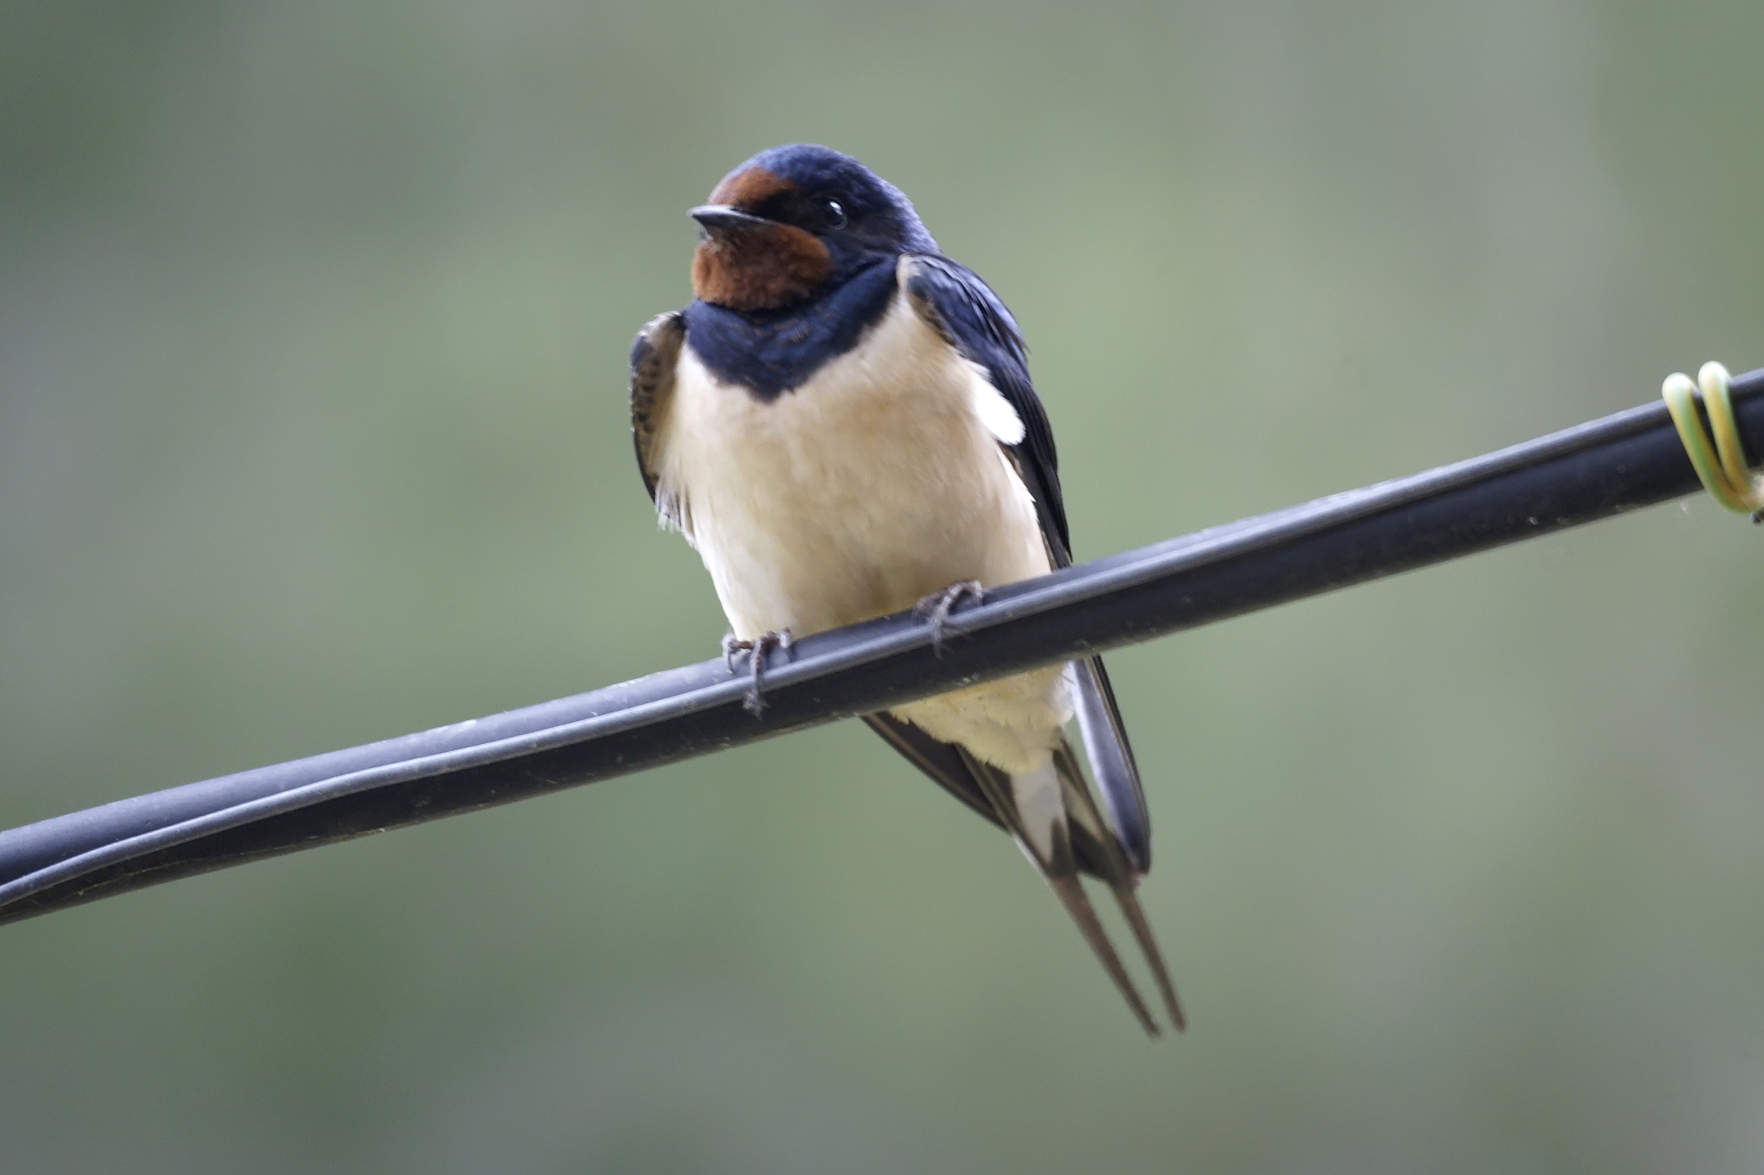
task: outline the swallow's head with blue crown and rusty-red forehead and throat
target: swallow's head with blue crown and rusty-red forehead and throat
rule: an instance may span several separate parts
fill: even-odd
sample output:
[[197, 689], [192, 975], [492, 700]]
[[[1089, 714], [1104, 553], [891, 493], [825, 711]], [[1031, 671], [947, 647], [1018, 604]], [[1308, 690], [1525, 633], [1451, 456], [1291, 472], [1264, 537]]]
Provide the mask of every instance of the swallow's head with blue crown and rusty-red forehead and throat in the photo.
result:
[[746, 161], [691, 210], [691, 288], [732, 311], [778, 311], [903, 252], [937, 252], [905, 194], [850, 155], [794, 143]]

